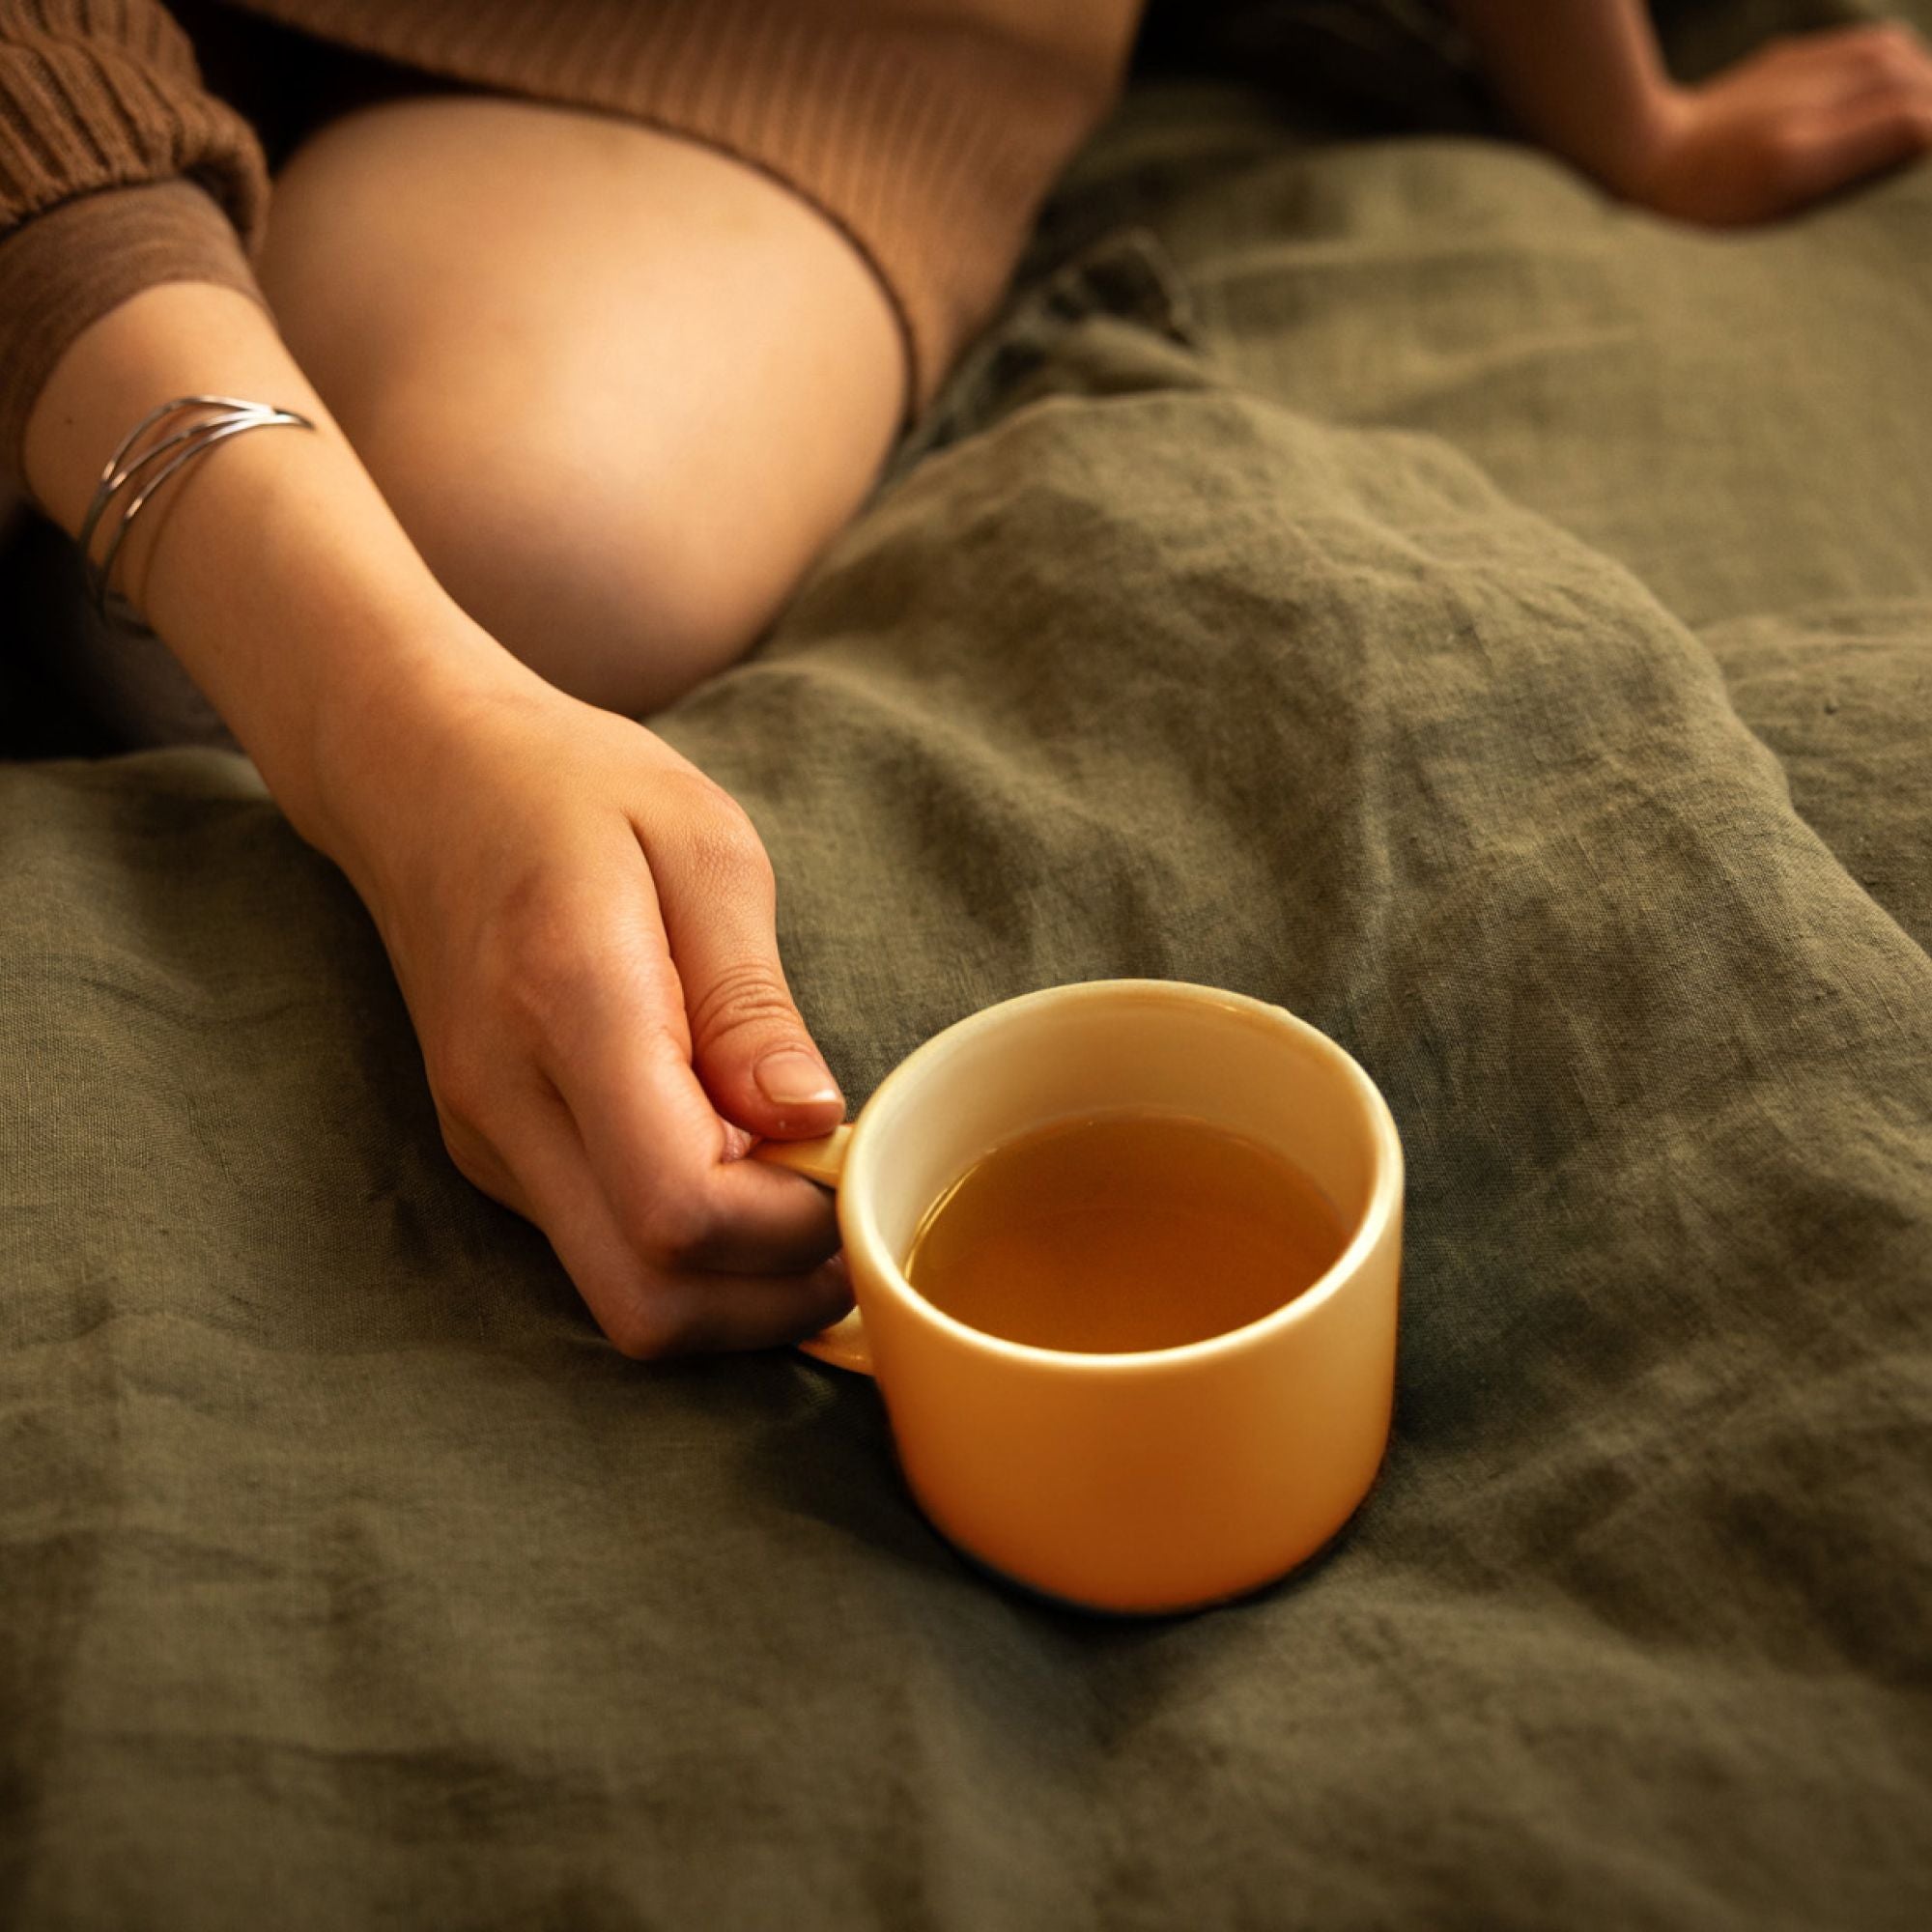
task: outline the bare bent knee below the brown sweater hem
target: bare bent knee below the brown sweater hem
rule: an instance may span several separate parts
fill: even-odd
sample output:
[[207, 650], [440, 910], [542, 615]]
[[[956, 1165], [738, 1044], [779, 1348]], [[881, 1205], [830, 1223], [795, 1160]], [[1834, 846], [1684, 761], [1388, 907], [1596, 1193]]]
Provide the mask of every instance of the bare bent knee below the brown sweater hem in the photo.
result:
[[893, 309], [821, 214], [605, 116], [348, 116], [276, 182], [259, 272], [450, 595], [630, 715], [744, 653], [904, 404]]

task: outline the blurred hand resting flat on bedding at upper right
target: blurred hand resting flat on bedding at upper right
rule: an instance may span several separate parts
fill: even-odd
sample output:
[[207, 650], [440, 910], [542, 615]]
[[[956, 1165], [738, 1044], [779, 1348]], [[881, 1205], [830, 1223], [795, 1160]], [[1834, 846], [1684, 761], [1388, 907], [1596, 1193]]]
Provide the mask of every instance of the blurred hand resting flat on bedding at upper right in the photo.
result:
[[1909, 27], [1774, 41], [1656, 112], [1602, 174], [1687, 222], [1774, 220], [1932, 149], [1932, 52]]

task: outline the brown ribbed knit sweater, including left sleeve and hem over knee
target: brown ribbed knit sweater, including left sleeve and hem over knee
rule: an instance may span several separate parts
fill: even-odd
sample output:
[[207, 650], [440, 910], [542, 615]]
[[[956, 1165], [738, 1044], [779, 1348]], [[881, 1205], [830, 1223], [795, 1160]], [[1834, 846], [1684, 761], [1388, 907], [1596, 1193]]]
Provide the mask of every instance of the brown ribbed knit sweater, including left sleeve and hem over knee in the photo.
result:
[[[753, 162], [867, 257], [925, 402], [1109, 104], [1138, 0], [238, 0]], [[155, 0], [0, 0], [0, 473], [62, 350], [153, 282], [261, 294], [269, 176]], [[4, 495], [4, 491], [0, 491]]]

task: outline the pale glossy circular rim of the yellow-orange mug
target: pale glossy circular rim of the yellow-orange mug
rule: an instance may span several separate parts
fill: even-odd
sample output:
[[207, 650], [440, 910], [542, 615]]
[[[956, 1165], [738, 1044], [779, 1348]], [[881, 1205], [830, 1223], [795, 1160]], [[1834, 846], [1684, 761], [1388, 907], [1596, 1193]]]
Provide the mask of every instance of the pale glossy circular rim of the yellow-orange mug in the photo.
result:
[[[1318, 1051], [1339, 1057], [1343, 1078], [1356, 1088], [1358, 1097], [1366, 1103], [1376, 1163], [1368, 1206], [1362, 1209], [1354, 1233], [1341, 1254], [1300, 1294], [1279, 1308], [1271, 1308], [1265, 1316], [1256, 1316], [1254, 1321], [1221, 1329], [1217, 1335], [1204, 1335], [1200, 1341], [1175, 1343], [1167, 1349], [1128, 1350], [1043, 1349], [1037, 1343], [1010, 1341], [1005, 1335], [976, 1329], [972, 1323], [960, 1321], [958, 1316], [951, 1316], [945, 1308], [929, 1302], [906, 1279], [904, 1267], [879, 1231], [873, 1204], [866, 1198], [871, 1188], [852, 1186], [854, 1180], [864, 1177], [864, 1159], [871, 1146], [869, 1128], [875, 1128], [885, 1117], [887, 1109], [881, 1101], [895, 1094], [895, 1090], [902, 1090], [914, 1082], [922, 1066], [929, 1065], [939, 1053], [951, 1051], [962, 1037], [997, 1028], [1028, 1007], [1063, 1005], [1066, 1001], [1107, 1001], [1119, 999], [1122, 993], [1151, 995], [1188, 1007], [1219, 1007], [1227, 1012], [1238, 1012], [1250, 1022], [1265, 1026], [1269, 1032], [1279, 1032], [1287, 1024], [1314, 1041]], [[1072, 980], [1065, 985], [1016, 993], [1012, 999], [995, 1001], [995, 1005], [981, 1007], [978, 1012], [968, 1012], [964, 1018], [941, 1028], [929, 1039], [923, 1039], [873, 1088], [871, 1097], [852, 1122], [852, 1142], [846, 1148], [844, 1175], [838, 1182], [838, 1231], [848, 1246], [864, 1246], [871, 1264], [871, 1275], [885, 1283], [887, 1293], [912, 1302], [922, 1316], [949, 1329], [968, 1345], [1016, 1362], [1028, 1362], [1036, 1368], [1065, 1366], [1078, 1368], [1084, 1374], [1150, 1374], [1177, 1362], [1198, 1362], [1215, 1354], [1229, 1354], [1235, 1349], [1254, 1347], [1271, 1329], [1285, 1331], [1310, 1320], [1316, 1308], [1333, 1300], [1345, 1283], [1360, 1273], [1362, 1264], [1381, 1244], [1389, 1221], [1399, 1215], [1403, 1206], [1403, 1142], [1381, 1088], [1368, 1076], [1362, 1063], [1339, 1039], [1323, 1034], [1320, 1026], [1312, 1026], [1300, 1014], [1289, 1012], [1287, 1007], [1271, 1001], [1256, 999], [1250, 993], [1235, 993], [1229, 987], [1202, 985], [1194, 980]]]

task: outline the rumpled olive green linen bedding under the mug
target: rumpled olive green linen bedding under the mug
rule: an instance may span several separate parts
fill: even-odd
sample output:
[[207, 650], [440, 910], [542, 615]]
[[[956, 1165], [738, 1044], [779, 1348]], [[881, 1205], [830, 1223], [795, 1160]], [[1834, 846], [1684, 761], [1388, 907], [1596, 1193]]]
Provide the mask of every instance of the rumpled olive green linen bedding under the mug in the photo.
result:
[[655, 721], [854, 1103], [1121, 974], [1387, 1094], [1389, 1461], [1196, 1617], [620, 1358], [243, 759], [0, 765], [0, 1924], [1932, 1922], [1928, 417], [1928, 166], [1718, 236], [1150, 85]]

